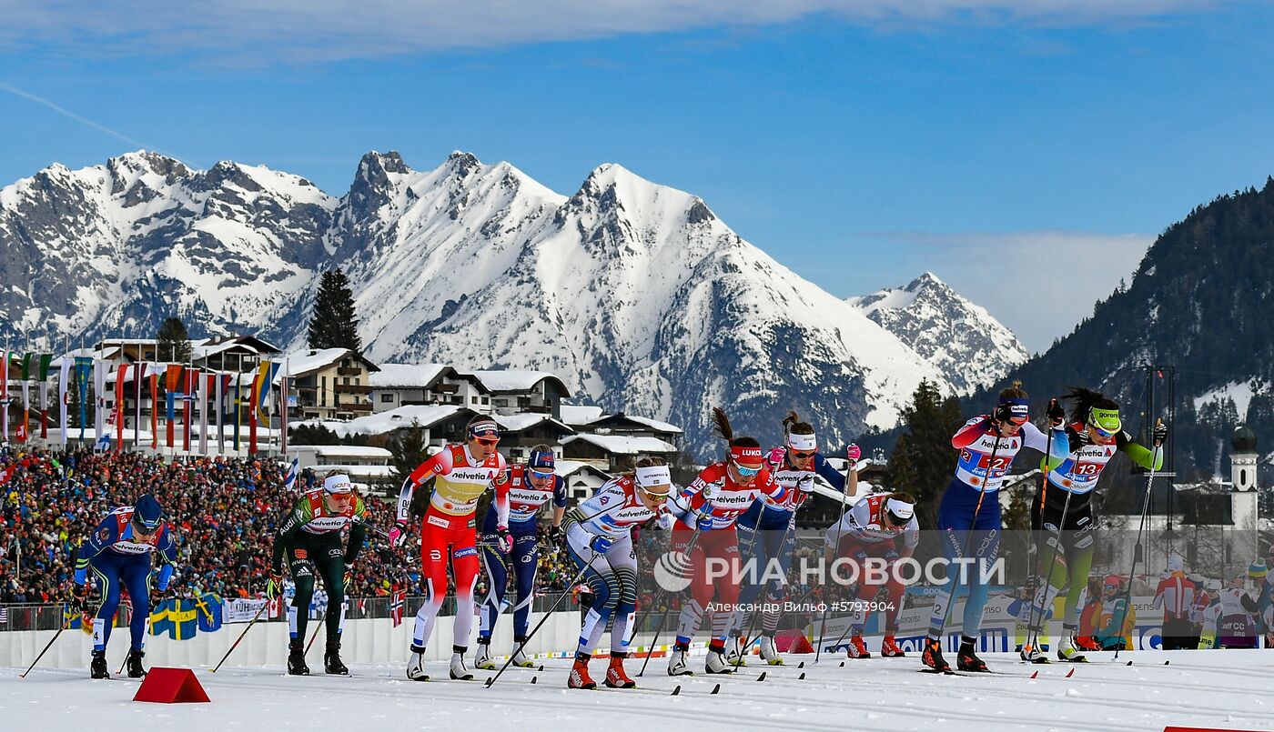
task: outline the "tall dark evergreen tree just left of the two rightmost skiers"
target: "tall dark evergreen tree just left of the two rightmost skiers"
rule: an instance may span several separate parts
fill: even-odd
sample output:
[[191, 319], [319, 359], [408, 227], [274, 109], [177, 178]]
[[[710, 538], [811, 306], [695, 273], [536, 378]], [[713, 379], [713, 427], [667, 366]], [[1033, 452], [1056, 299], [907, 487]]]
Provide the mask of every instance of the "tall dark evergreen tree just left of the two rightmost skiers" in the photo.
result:
[[889, 457], [889, 485], [916, 498], [921, 528], [938, 524], [938, 502], [950, 482], [956, 454], [952, 435], [964, 423], [956, 397], [943, 397], [938, 384], [921, 381], [902, 411], [905, 432]]

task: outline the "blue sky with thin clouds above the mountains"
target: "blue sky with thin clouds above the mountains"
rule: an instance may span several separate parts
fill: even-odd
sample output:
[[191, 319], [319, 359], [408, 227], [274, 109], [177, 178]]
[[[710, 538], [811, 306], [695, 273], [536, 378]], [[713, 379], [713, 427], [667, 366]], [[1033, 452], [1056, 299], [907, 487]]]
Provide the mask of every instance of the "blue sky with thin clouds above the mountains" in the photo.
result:
[[1037, 350], [1274, 173], [1266, 4], [241, 5], [0, 0], [0, 182], [139, 146], [334, 195], [369, 149], [563, 194], [618, 162], [833, 294], [931, 270]]

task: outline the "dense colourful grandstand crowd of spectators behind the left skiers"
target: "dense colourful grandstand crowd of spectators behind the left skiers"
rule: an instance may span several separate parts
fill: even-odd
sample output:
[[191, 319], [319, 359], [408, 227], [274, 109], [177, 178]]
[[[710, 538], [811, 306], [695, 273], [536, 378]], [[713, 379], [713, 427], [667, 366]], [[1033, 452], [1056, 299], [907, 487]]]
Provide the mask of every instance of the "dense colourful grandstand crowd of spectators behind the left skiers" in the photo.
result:
[[[285, 489], [284, 471], [284, 465], [265, 458], [168, 460], [90, 448], [0, 448], [0, 479], [8, 475], [0, 482], [0, 603], [64, 601], [76, 544], [111, 509], [148, 491], [159, 499], [176, 530], [180, 561], [173, 593], [256, 596], [269, 579], [278, 522], [299, 490], [320, 482], [311, 471], [301, 471], [298, 488]], [[392, 526], [391, 502], [367, 496], [367, 507], [372, 526]], [[392, 549], [375, 532], [368, 532], [367, 542], [354, 567], [350, 596], [386, 596], [396, 588], [420, 595], [420, 560], [414, 550]], [[539, 592], [571, 589], [575, 574], [564, 551], [541, 544]], [[485, 587], [480, 584], [479, 591]]]

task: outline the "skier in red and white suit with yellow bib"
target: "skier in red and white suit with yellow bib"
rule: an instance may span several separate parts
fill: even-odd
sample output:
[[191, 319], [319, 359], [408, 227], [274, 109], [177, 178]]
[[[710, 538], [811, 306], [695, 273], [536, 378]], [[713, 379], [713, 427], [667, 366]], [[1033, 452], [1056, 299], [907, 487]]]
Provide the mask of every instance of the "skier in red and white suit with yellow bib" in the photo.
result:
[[478, 583], [478, 537], [474, 530], [474, 512], [478, 499], [488, 489], [496, 490], [492, 505], [496, 510], [496, 542], [502, 554], [513, 547], [513, 535], [508, 531], [508, 475], [505, 458], [496, 451], [499, 428], [496, 420], [478, 415], [469, 421], [469, 440], [448, 444], [441, 452], [420, 463], [403, 481], [399, 493], [397, 526], [390, 530], [390, 542], [397, 545], [406, 531], [412, 494], [415, 486], [433, 479], [429, 508], [424, 512], [420, 528], [420, 574], [424, 579], [426, 598], [415, 614], [412, 633], [412, 658], [406, 676], [414, 681], [428, 681], [424, 672], [424, 645], [433, 634], [433, 623], [447, 595], [447, 560], [456, 582], [456, 621], [451, 645], [451, 679], [470, 681], [474, 675], [465, 667], [469, 649], [469, 631], [474, 621], [474, 586]]

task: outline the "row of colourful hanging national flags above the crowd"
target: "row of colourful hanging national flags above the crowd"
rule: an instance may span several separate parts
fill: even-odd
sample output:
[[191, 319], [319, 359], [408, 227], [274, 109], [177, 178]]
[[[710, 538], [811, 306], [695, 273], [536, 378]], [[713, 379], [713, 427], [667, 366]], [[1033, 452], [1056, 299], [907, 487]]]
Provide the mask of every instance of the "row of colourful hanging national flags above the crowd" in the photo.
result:
[[[41, 353], [17, 353], [0, 349], [0, 439], [8, 440], [10, 435], [9, 411], [13, 406], [13, 397], [9, 387], [14, 372], [18, 374], [18, 383], [22, 388], [22, 414], [18, 415], [15, 429], [11, 432], [14, 442], [24, 443], [31, 434], [32, 387], [38, 386], [38, 425], [39, 437], [48, 439], [48, 410], [50, 387], [52, 386], [51, 369], [56, 356]], [[232, 426], [232, 444], [238, 451], [242, 443], [242, 412], [247, 406], [247, 440], [248, 451], [257, 449], [257, 425], [269, 425], [269, 404], [271, 391], [278, 390], [279, 415], [283, 429], [280, 430], [280, 452], [287, 452], [287, 424], [288, 424], [288, 378], [279, 379], [278, 387], [274, 379], [279, 373], [282, 362], [262, 359], [256, 370], [252, 372], [251, 382], [245, 384], [241, 374], [199, 369], [191, 365], [172, 363], [121, 363], [98, 359], [94, 356], [62, 356], [59, 362], [57, 401], [59, 401], [59, 428], [61, 443], [70, 439], [70, 409], [71, 384], [75, 386], [76, 407], [79, 410], [79, 439], [84, 439], [88, 425], [89, 383], [92, 381], [94, 398], [94, 433], [97, 446], [103, 449], [111, 448], [111, 432], [115, 433], [113, 448], [124, 449], [124, 428], [126, 421], [125, 409], [127, 396], [132, 396], [134, 402], [134, 447], [140, 447], [141, 433], [141, 401], [150, 398], [150, 447], [159, 448], [159, 388], [161, 379], [164, 392], [164, 426], [166, 447], [177, 447], [177, 426], [181, 424], [181, 449], [190, 452], [194, 418], [199, 416], [199, 452], [208, 453], [209, 438], [209, 412], [215, 415], [217, 451], [225, 449], [225, 416], [227, 401], [232, 406], [229, 426]], [[107, 407], [107, 381], [110, 373], [116, 369], [115, 400]], [[129, 395], [131, 384], [131, 395]], [[211, 410], [209, 404], [215, 405]], [[181, 418], [178, 419], [178, 411]], [[113, 426], [113, 430], [110, 429]]]

